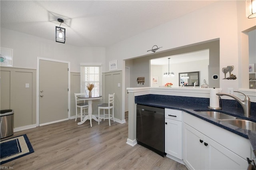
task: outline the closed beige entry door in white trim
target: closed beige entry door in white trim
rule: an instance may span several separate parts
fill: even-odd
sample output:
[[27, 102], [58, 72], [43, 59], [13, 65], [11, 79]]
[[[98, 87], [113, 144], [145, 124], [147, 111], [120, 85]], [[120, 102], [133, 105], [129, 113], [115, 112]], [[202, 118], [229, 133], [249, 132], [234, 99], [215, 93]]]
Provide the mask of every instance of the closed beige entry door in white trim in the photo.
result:
[[68, 119], [68, 63], [39, 60], [39, 125]]

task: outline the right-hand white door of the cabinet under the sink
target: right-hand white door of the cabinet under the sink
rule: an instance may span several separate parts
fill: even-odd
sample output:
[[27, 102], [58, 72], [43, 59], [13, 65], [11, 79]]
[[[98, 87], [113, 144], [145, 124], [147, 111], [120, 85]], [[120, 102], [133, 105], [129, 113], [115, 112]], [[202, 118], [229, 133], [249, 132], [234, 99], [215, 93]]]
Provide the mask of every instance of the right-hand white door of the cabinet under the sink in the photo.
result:
[[[209, 170], [243, 170], [248, 166], [245, 159], [224, 146], [218, 144], [211, 138], [205, 136], [205, 169]], [[239, 146], [238, 146], [239, 147]]]

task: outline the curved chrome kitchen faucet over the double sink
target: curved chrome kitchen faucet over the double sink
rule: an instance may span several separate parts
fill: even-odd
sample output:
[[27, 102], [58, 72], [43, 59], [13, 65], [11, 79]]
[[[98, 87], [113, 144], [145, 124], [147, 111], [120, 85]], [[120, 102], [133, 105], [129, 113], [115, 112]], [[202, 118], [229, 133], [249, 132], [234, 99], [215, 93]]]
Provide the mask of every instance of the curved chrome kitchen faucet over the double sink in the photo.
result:
[[[239, 91], [234, 91], [234, 92], [241, 93]], [[242, 93], [242, 94], [245, 96], [244, 101], [242, 101], [238, 97], [236, 97], [234, 95], [231, 95], [231, 94], [228, 94], [228, 93], [216, 93], [216, 95], [218, 95], [218, 96], [229, 96], [229, 97], [232, 97], [233, 99], [236, 99], [236, 101], [238, 101], [238, 103], [240, 103], [240, 105], [242, 105], [242, 107], [244, 109], [244, 116], [251, 117], [251, 113], [250, 113], [251, 101], [250, 101], [250, 98], [247, 95], [245, 95], [244, 93]]]

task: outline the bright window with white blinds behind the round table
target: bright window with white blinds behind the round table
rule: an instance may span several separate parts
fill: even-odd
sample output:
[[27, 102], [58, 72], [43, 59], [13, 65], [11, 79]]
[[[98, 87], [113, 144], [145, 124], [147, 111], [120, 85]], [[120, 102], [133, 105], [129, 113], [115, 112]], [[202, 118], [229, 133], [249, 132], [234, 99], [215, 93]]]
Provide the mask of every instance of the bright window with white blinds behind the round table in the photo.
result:
[[102, 95], [102, 66], [101, 65], [81, 65], [81, 85], [80, 93], [89, 94], [88, 83], [93, 83], [92, 95]]

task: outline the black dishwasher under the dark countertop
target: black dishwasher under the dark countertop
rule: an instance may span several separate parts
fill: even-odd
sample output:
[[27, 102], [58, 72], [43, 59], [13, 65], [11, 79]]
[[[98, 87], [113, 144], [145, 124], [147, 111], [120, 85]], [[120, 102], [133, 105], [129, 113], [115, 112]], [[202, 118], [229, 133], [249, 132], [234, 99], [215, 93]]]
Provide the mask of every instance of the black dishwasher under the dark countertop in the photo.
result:
[[137, 143], [164, 156], [164, 109], [137, 105]]

